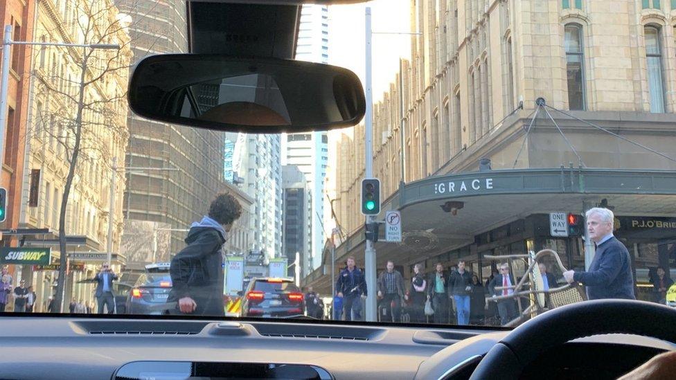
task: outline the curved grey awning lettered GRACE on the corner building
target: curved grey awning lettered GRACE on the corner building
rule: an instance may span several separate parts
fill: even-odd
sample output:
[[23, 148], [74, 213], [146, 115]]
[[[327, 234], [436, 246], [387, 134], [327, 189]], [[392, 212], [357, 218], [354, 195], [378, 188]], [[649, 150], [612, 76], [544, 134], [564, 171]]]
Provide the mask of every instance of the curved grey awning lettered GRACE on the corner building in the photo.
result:
[[[420, 262], [472, 244], [475, 235], [510, 221], [549, 212], [580, 213], [583, 203], [601, 199], [614, 206], [616, 215], [676, 215], [676, 172], [664, 170], [493, 170], [431, 177], [402, 190], [382, 206], [382, 215], [385, 210], [402, 212], [402, 243], [377, 242], [378, 267], [386, 260], [403, 265]], [[337, 247], [341, 264], [336, 264], [336, 271], [349, 255], [363, 262], [363, 228]], [[326, 291], [330, 284], [329, 255], [303, 278], [303, 285]]]

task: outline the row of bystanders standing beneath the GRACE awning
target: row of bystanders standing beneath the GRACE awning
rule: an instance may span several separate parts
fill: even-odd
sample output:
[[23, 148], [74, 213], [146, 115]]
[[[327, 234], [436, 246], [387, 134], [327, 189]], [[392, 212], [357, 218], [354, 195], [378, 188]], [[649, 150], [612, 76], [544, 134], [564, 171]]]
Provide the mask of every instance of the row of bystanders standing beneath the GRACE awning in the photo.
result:
[[[497, 321], [506, 323], [515, 318], [515, 300], [486, 302], [488, 296], [512, 294], [512, 289], [495, 289], [513, 286], [508, 274], [508, 264], [502, 264], [504, 275], [492, 273], [484, 284], [479, 276], [465, 269], [460, 261], [450, 271], [438, 263], [435, 271], [425, 275], [422, 266], [413, 266], [408, 284], [388, 261], [386, 270], [377, 278], [377, 310], [381, 322], [451, 323], [454, 325], [486, 325]], [[362, 300], [368, 295], [362, 269], [349, 257], [346, 267], [336, 281], [333, 302], [335, 320], [362, 320]]]

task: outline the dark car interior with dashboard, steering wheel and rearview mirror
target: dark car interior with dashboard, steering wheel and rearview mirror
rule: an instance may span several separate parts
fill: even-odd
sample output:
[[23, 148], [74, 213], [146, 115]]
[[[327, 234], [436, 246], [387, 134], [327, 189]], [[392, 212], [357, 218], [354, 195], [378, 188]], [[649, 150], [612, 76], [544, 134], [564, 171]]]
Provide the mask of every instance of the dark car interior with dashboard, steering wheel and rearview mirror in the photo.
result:
[[[364, 118], [367, 100], [355, 73], [294, 61], [303, 0], [185, 3], [189, 53], [136, 64], [128, 95], [134, 113], [250, 134], [326, 131]], [[204, 109], [197, 94], [213, 84], [247, 89]], [[271, 88], [258, 101], [263, 92], [256, 89]], [[132, 285], [118, 307], [128, 307]], [[558, 307], [515, 328], [265, 316], [0, 316], [2, 379], [600, 380], [674, 350], [676, 311], [628, 300]]]

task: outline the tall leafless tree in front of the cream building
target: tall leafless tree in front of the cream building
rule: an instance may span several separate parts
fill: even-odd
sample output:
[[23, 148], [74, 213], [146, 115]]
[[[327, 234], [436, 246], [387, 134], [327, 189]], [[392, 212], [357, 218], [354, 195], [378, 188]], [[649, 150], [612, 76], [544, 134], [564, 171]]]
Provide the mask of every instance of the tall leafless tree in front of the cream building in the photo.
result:
[[[127, 1], [125, 6], [134, 8], [134, 1]], [[60, 270], [55, 302], [60, 311], [66, 282], [69, 198], [76, 174], [80, 178], [90, 177], [84, 165], [79, 164], [89, 163], [90, 168], [94, 163], [107, 166], [113, 157], [123, 157], [125, 153], [129, 137], [126, 84], [132, 60], [128, 30], [134, 22], [123, 17], [112, 0], [69, 0], [65, 7], [66, 15], [69, 10], [74, 15], [64, 22], [71, 34], [71, 41], [66, 42], [117, 44], [119, 49], [70, 47], [46, 53], [47, 49], [42, 48], [37, 53], [35, 66], [38, 69], [31, 73], [34, 91], [46, 98], [46, 102], [42, 109], [35, 109], [37, 121], [26, 132], [26, 138], [43, 138], [57, 146], [67, 168], [58, 220]], [[152, 8], [148, 10], [151, 11]], [[57, 53], [62, 55], [61, 61]], [[46, 54], [51, 54], [51, 67], [45, 68]], [[76, 68], [75, 78], [67, 73], [69, 67]]]

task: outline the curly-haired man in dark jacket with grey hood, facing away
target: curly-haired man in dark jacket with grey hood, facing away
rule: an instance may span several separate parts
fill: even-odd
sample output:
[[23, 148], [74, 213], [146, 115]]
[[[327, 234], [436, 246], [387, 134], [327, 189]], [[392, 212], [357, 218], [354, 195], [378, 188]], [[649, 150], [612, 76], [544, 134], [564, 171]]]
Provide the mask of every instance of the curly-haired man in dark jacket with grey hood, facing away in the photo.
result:
[[219, 194], [208, 216], [190, 226], [183, 248], [172, 260], [172, 289], [167, 302], [177, 302], [181, 314], [223, 316], [223, 255], [226, 233], [242, 213], [231, 194]]

